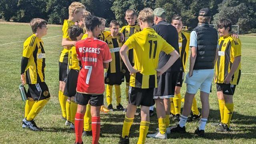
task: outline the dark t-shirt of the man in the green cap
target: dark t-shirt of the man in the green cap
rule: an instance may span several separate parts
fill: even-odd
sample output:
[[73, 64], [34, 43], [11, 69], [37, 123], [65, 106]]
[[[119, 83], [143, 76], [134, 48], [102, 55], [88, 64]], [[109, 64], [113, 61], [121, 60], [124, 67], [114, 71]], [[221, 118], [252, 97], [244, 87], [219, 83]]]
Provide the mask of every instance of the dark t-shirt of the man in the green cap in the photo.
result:
[[[168, 42], [175, 50], [180, 53], [178, 44], [178, 32], [174, 26], [168, 24], [166, 21], [160, 21], [158, 24], [153, 26], [154, 30]], [[158, 68], [162, 68], [166, 62], [168, 62], [170, 54], [160, 52]], [[180, 58], [174, 62], [174, 64], [166, 72], [177, 72], [180, 71]]]

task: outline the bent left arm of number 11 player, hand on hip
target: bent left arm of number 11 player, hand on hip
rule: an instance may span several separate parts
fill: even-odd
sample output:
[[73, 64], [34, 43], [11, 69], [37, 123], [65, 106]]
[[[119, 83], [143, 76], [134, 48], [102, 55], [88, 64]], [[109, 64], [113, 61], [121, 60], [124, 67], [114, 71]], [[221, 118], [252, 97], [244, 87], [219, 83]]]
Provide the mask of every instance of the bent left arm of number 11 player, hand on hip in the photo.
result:
[[124, 64], [126, 65], [126, 67], [128, 68], [130, 75], [135, 74], [137, 72], [140, 72], [140, 70], [135, 70], [132, 67], [132, 64], [129, 61], [129, 58], [126, 54], [126, 52], [129, 50], [128, 46], [126, 44], [124, 44], [121, 49], [120, 49], [120, 56], [122, 57], [122, 60], [124, 62]]

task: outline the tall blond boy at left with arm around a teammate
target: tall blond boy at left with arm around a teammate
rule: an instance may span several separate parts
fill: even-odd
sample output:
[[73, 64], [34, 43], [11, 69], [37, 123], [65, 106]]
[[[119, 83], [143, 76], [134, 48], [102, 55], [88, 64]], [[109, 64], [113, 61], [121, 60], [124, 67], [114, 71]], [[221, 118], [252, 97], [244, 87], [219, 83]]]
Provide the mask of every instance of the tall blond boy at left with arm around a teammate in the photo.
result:
[[[60, 107], [62, 110], [62, 118], [66, 120], [66, 104], [67, 103], [67, 97], [63, 95], [64, 88], [65, 88], [65, 82], [64, 80], [67, 77], [67, 70], [68, 70], [68, 51], [70, 49], [70, 46], [75, 46], [76, 41], [70, 40], [68, 36], [68, 28], [70, 26], [74, 25], [74, 23], [82, 18], [83, 10], [85, 9], [85, 6], [81, 4], [80, 2], [72, 2], [70, 6], [68, 7], [68, 13], [69, 17], [68, 20], [64, 20], [63, 26], [62, 26], [62, 46], [64, 46], [62, 52], [60, 53], [59, 58], [59, 101], [60, 101]], [[70, 107], [67, 106], [67, 107]], [[66, 121], [65, 125], [70, 125], [68, 121]]]

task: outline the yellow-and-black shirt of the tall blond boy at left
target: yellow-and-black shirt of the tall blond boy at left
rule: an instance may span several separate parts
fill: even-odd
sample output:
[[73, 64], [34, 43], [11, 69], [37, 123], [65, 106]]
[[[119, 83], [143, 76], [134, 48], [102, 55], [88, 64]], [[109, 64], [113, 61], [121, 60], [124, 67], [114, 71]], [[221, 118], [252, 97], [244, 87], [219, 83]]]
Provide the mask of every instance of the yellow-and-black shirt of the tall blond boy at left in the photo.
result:
[[[62, 26], [62, 38], [69, 38], [68, 36], [68, 28], [70, 28], [70, 26], [74, 25], [75, 23], [72, 22], [71, 20], [64, 20], [63, 26]], [[63, 50], [60, 53], [60, 59], [59, 62], [63, 62], [68, 64], [68, 49], [63, 48]]]

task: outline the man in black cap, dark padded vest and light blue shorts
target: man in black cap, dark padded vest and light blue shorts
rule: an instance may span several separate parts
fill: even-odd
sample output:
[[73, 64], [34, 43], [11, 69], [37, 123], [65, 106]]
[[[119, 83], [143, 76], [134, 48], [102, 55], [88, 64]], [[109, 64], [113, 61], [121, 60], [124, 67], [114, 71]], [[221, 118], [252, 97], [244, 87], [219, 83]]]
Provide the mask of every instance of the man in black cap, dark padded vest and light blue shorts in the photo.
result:
[[189, 73], [185, 80], [187, 84], [185, 103], [180, 122], [172, 127], [171, 132], [186, 132], [185, 124], [191, 111], [192, 100], [200, 88], [202, 117], [195, 134], [204, 136], [210, 110], [209, 93], [214, 75], [214, 64], [218, 56], [218, 33], [216, 29], [210, 28], [210, 18], [210, 10], [202, 8], [198, 16], [199, 24], [190, 34], [191, 55]]

